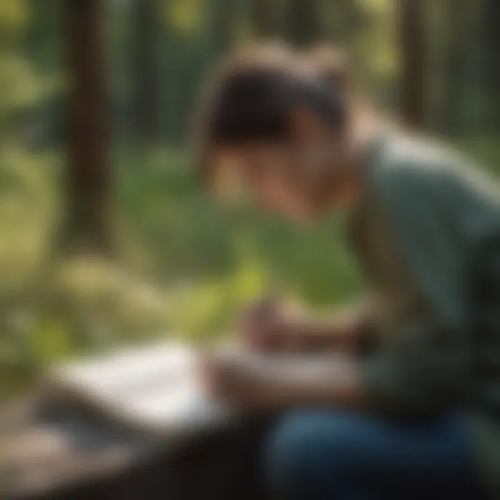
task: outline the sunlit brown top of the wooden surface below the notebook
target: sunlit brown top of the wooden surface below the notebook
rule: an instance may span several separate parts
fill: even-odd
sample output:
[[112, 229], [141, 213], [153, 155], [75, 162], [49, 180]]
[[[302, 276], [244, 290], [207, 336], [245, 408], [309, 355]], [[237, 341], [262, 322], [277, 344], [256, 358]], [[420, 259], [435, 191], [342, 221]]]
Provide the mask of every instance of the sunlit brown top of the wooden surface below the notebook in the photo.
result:
[[40, 401], [3, 416], [2, 488], [8, 498], [40, 498], [116, 476], [158, 448], [96, 419], [48, 413]]

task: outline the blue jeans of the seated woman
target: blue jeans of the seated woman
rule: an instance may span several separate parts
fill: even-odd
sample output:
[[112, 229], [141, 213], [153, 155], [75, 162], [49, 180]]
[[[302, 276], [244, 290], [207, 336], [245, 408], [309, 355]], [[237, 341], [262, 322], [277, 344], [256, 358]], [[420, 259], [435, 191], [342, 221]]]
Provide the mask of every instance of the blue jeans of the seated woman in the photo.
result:
[[272, 498], [484, 498], [460, 417], [397, 423], [335, 410], [278, 422], [265, 449]]

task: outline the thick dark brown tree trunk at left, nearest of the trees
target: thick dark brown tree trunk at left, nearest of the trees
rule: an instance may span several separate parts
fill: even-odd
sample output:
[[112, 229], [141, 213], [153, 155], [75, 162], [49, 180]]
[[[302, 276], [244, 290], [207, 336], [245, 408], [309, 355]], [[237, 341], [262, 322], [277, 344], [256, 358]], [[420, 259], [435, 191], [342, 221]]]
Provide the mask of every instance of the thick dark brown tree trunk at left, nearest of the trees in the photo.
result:
[[67, 249], [111, 250], [105, 0], [65, 0]]

